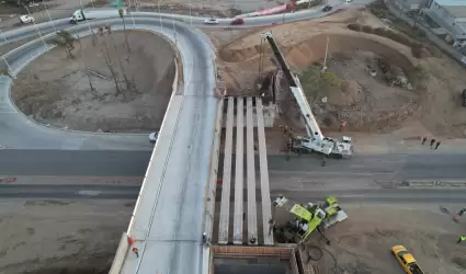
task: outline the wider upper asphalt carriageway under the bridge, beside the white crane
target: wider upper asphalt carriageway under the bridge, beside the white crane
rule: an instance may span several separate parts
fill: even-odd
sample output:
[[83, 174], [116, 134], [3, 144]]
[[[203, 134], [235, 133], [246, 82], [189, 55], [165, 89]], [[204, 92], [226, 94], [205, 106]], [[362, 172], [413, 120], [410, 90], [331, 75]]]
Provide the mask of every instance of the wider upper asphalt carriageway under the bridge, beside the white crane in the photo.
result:
[[[320, 159], [314, 156], [293, 156], [289, 161], [286, 161], [284, 156], [269, 156], [269, 170], [306, 172], [312, 179], [466, 178], [466, 155], [436, 152], [355, 155], [350, 160], [330, 159], [326, 167], [321, 167]], [[0, 150], [0, 175], [144, 176], [150, 153], [150, 151]]]

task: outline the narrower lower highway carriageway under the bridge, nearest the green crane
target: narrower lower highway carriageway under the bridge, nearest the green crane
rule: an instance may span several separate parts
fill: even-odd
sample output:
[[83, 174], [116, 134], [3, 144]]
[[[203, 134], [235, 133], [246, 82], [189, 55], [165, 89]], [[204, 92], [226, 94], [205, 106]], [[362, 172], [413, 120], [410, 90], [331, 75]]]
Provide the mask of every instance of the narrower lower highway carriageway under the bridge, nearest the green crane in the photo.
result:
[[[132, 199], [136, 201], [138, 185], [0, 185], [0, 198], [60, 198], [60, 199]], [[246, 191], [246, 190], [245, 190]], [[465, 189], [416, 189], [399, 187], [390, 190], [355, 189], [334, 190], [331, 193], [316, 190], [273, 190], [271, 196], [284, 194], [287, 198], [298, 203], [321, 201], [331, 194], [344, 204], [375, 203], [375, 204], [464, 204], [466, 203]], [[261, 199], [257, 192], [258, 201]], [[245, 195], [246, 197], [246, 195]], [[216, 201], [220, 202], [217, 192]], [[234, 202], [234, 199], [231, 199]], [[246, 201], [245, 201], [246, 202]]]

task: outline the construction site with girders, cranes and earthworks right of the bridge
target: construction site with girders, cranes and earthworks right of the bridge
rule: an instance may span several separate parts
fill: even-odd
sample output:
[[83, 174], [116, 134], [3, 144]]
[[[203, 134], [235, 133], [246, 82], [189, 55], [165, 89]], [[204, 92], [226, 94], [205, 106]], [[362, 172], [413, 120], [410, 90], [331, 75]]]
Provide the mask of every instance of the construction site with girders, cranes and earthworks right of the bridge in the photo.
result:
[[[436, 57], [419, 56], [395, 41], [349, 30], [354, 23], [387, 27], [364, 11], [316, 21], [294, 23], [293, 31], [286, 24], [246, 35], [211, 33], [214, 43], [230, 41], [219, 46], [227, 96], [218, 180], [212, 190], [217, 202], [214, 232], [205, 239], [213, 244], [213, 273], [401, 273], [390, 256], [409, 252], [397, 253], [396, 244], [417, 252], [427, 273], [461, 273], [462, 248], [453, 248], [452, 228], [440, 232], [425, 225], [424, 230], [395, 217], [419, 214], [448, 221], [439, 208], [348, 205], [346, 212], [333, 196], [305, 203], [276, 192], [271, 197], [268, 153], [317, 153], [325, 167], [328, 158], [350, 159], [357, 151], [345, 136], [352, 132], [394, 141], [465, 134], [458, 121], [465, 112], [461, 72], [445, 79], [435, 67], [440, 61], [463, 72], [457, 64], [432, 48]], [[434, 90], [439, 79], [456, 84], [445, 90], [451, 92], [444, 94], [447, 101], [433, 101], [440, 96], [441, 89]], [[455, 122], [433, 119], [432, 112], [440, 109]], [[429, 247], [422, 243], [427, 239], [432, 241]], [[441, 243], [446, 239], [448, 248]], [[436, 263], [429, 264], [427, 258]], [[408, 273], [424, 273], [410, 260], [404, 266]]]

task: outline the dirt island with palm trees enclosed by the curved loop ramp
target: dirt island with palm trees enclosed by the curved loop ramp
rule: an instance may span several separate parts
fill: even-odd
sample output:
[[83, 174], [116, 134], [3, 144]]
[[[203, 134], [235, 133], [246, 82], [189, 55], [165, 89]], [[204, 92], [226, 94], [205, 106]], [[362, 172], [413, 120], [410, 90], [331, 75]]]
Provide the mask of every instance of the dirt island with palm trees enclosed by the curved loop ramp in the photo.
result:
[[[56, 127], [158, 129], [172, 92], [173, 49], [166, 39], [146, 32], [128, 31], [127, 41], [130, 53], [123, 32], [82, 38], [75, 43], [73, 58], [62, 47], [52, 49], [20, 72], [13, 100], [26, 115]], [[120, 92], [106, 64], [109, 56]]]

